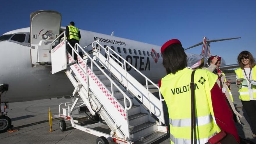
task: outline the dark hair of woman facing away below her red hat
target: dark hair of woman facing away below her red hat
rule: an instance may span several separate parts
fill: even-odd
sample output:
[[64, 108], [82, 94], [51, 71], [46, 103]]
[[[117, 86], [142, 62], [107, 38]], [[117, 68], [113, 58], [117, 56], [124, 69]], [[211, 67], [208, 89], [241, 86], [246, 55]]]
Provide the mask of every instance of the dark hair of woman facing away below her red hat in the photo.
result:
[[187, 55], [180, 44], [169, 45], [163, 51], [163, 66], [166, 74], [175, 74], [187, 66]]

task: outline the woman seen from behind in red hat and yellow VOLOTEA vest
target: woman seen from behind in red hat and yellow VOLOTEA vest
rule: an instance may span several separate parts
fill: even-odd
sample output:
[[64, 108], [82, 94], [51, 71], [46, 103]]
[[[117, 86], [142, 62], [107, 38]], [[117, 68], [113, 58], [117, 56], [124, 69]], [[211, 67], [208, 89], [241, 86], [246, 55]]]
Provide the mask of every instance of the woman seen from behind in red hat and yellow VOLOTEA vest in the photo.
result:
[[[177, 39], [161, 47], [167, 75], [159, 81], [169, 113], [171, 143], [191, 143], [191, 93], [193, 70], [187, 68], [187, 56]], [[239, 142], [233, 115], [216, 83], [217, 75], [208, 70], [195, 72], [196, 139], [203, 144], [216, 133], [226, 131]]]

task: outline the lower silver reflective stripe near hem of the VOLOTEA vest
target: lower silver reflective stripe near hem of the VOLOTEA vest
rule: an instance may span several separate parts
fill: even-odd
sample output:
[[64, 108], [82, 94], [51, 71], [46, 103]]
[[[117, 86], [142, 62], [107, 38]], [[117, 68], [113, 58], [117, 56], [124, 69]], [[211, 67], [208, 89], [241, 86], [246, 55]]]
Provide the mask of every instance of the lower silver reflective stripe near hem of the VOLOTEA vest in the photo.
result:
[[[197, 140], [196, 140], [196, 141], [197, 141], [196, 143], [197, 143], [197, 144], [205, 144], [205, 143], [207, 143], [208, 140], [209, 140], [211, 137], [213, 137], [216, 133], [217, 133], [217, 131], [216, 131], [213, 135], [209, 136], [208, 138], [197, 139]], [[191, 139], [175, 138], [172, 134], [170, 134], [170, 139], [171, 139], [171, 141], [173, 141], [173, 143], [175, 143], [175, 144], [187, 144], [187, 143], [191, 143]]]

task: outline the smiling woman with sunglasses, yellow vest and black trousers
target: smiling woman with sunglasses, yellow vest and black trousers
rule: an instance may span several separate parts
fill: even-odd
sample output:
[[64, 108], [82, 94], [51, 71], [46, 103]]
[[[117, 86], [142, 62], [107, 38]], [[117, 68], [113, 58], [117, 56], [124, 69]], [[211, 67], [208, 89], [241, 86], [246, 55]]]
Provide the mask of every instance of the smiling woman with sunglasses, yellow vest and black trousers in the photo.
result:
[[256, 86], [252, 80], [256, 80], [255, 60], [249, 51], [242, 51], [237, 61], [240, 68], [235, 70], [237, 76], [237, 87], [239, 89], [239, 99], [241, 99], [253, 131], [253, 137], [256, 138]]

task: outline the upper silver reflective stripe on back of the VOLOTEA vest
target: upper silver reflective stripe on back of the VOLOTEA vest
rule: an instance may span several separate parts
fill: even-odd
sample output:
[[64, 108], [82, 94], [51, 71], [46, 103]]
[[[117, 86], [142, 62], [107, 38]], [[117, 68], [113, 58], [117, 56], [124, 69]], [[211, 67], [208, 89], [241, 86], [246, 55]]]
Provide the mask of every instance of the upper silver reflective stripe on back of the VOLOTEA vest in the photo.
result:
[[[173, 127], [190, 127], [191, 126], [191, 118], [186, 119], [175, 119], [172, 120], [169, 118], [169, 122]], [[211, 122], [211, 115], [206, 115], [202, 117], [196, 118], [196, 125], [206, 125]]]

